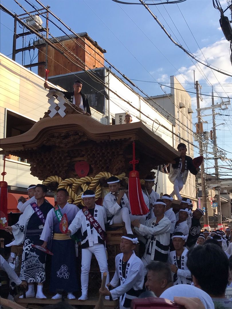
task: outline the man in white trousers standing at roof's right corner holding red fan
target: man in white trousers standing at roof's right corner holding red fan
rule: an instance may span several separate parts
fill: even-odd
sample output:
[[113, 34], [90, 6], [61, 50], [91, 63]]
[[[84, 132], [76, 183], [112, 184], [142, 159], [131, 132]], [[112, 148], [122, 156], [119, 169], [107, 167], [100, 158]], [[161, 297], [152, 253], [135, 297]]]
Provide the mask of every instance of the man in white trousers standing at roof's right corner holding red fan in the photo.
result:
[[180, 157], [175, 158], [174, 161], [171, 162], [172, 168], [168, 178], [171, 183], [174, 184], [174, 190], [170, 196], [176, 195], [177, 199], [181, 200], [182, 197], [180, 191], [186, 183], [188, 171], [190, 171], [191, 174], [196, 175], [198, 171], [200, 171], [200, 168], [195, 168], [192, 163], [192, 158], [186, 155], [187, 148], [185, 144], [180, 143], [177, 146], [177, 150], [180, 153]]

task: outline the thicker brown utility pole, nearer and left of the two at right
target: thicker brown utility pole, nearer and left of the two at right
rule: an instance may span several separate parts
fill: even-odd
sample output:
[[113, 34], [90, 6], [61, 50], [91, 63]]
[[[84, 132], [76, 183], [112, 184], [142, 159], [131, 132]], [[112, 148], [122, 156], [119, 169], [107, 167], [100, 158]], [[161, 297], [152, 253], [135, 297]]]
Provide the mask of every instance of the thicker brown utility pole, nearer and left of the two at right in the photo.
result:
[[[200, 155], [203, 156], [203, 145], [202, 145], [202, 133], [203, 133], [203, 123], [201, 122], [201, 115], [200, 115], [200, 95], [199, 95], [199, 83], [196, 81], [196, 104], [197, 104], [197, 129], [199, 135], [199, 148], [200, 148]], [[202, 190], [202, 207], [205, 208], [205, 215], [204, 215], [204, 227], [209, 228], [208, 223], [208, 208], [207, 208], [207, 195], [206, 195], [206, 186], [205, 186], [205, 171], [204, 171], [204, 160], [200, 166], [200, 176], [201, 176], [201, 190]]]

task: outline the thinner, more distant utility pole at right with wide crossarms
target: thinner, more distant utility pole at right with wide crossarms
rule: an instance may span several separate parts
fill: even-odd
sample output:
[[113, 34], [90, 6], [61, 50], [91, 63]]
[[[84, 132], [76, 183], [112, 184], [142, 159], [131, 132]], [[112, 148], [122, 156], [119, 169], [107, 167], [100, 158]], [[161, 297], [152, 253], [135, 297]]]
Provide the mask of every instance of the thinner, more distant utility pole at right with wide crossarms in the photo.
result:
[[[212, 106], [214, 105], [213, 89], [212, 89]], [[215, 165], [215, 177], [218, 180], [219, 188], [217, 190], [217, 224], [222, 224], [221, 218], [221, 197], [220, 197], [220, 180], [219, 180], [219, 171], [218, 171], [218, 161], [217, 161], [217, 135], [216, 135], [216, 121], [215, 121], [215, 109], [212, 109], [213, 112], [213, 155], [214, 155], [214, 165]]]

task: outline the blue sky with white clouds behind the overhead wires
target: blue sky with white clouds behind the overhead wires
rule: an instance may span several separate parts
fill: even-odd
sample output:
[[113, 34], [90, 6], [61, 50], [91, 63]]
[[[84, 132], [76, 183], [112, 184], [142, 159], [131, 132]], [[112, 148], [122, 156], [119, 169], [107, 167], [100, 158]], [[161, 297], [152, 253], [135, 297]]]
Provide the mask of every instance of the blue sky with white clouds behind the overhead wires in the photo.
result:
[[[24, 0], [18, 1], [28, 11], [33, 10]], [[125, 1], [129, 2], [129, 0]], [[35, 0], [30, 0], [30, 2], [39, 7]], [[133, 2], [139, 3], [138, 0]], [[13, 0], [3, 0], [1, 3], [17, 14], [23, 13], [23, 10]], [[51, 10], [76, 32], [87, 32], [93, 40], [106, 49], [105, 57], [131, 79], [168, 83], [170, 75], [175, 75], [187, 90], [195, 92], [193, 85], [193, 70], [195, 70], [196, 79], [202, 84], [202, 93], [211, 94], [210, 84], [213, 84], [215, 95], [232, 97], [232, 78], [213, 73], [202, 65], [200, 67], [195, 65], [195, 61], [192, 62], [180, 48], [169, 40], [153, 17], [141, 5], [122, 5], [111, 0], [47, 0], [46, 2], [43, 0], [43, 3], [51, 6]], [[226, 9], [228, 6], [226, 0], [221, 1], [221, 6]], [[213, 7], [212, 0], [187, 0], [178, 5], [150, 6], [150, 9], [183, 47], [204, 61], [206, 58], [213, 66], [232, 73], [229, 43], [220, 29], [220, 15]], [[1, 53], [11, 57], [13, 18], [2, 11], [0, 14], [0, 50]], [[227, 10], [227, 16], [231, 19], [229, 10]], [[49, 28], [54, 36], [62, 35], [51, 23]], [[22, 42], [19, 41], [17, 47], [22, 47]], [[18, 55], [16, 60], [20, 63], [21, 55]], [[135, 83], [148, 95], [163, 94], [157, 83], [139, 81]], [[170, 91], [169, 88], [165, 90]], [[192, 107], [195, 109], [195, 95], [191, 97]], [[215, 98], [215, 103], [217, 102], [220, 102], [220, 99]], [[211, 99], [204, 99], [201, 107], [209, 106], [209, 104], [211, 104]], [[210, 112], [206, 112], [208, 113]], [[227, 150], [227, 158], [232, 159], [231, 106], [229, 111], [222, 111], [221, 114], [230, 116], [217, 115], [217, 124], [225, 123], [217, 127], [217, 142], [218, 146]], [[195, 116], [196, 113], [193, 114], [193, 117]], [[204, 120], [207, 119], [209, 123], [204, 124], [204, 130], [209, 131], [212, 127], [212, 120], [211, 117], [204, 117]], [[193, 118], [193, 123], [195, 122], [197, 119]], [[213, 165], [213, 161], [209, 161], [211, 161], [209, 164]], [[228, 161], [220, 161], [220, 164], [226, 166]], [[221, 171], [224, 173], [226, 170]]]

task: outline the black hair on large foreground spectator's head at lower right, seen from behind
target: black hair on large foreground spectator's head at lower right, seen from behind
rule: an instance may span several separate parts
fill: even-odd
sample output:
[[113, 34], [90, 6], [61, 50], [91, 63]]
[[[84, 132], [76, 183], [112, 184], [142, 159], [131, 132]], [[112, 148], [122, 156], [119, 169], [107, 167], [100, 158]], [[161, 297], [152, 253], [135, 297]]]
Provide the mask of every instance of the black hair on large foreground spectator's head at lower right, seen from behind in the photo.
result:
[[187, 253], [187, 268], [207, 294], [213, 297], [225, 294], [229, 261], [221, 248], [213, 243], [191, 248]]

